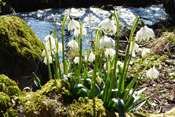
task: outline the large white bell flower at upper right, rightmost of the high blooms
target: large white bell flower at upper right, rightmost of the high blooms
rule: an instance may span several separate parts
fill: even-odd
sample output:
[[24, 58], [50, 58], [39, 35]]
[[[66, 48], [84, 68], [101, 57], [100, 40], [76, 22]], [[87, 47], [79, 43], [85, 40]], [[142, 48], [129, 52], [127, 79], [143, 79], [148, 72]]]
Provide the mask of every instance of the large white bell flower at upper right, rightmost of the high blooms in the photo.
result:
[[155, 37], [154, 31], [151, 28], [144, 26], [136, 33], [135, 39], [140, 42], [142, 40], [147, 41], [149, 38], [153, 37]]

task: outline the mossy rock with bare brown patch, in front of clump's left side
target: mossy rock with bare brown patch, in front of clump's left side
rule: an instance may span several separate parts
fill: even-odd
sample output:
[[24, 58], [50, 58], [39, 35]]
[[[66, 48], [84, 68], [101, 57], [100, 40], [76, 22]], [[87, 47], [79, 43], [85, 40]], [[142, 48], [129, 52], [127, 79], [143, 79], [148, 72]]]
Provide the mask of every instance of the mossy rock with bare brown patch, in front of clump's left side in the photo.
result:
[[[29, 92], [23, 98], [23, 111], [19, 116], [48, 117], [59, 116], [66, 110], [63, 104], [69, 96], [70, 85], [60, 79], [50, 80], [41, 90]], [[24, 101], [25, 100], [25, 101]]]

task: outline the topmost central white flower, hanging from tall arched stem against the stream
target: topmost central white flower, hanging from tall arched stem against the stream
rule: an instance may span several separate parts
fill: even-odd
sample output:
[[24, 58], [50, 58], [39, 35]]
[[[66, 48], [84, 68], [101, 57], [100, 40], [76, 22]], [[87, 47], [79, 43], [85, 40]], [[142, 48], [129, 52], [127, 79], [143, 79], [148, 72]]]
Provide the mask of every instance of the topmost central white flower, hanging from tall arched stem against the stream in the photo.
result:
[[98, 27], [104, 28], [107, 32], [112, 31], [113, 33], [116, 33], [117, 30], [116, 26], [109, 18], [101, 21]]

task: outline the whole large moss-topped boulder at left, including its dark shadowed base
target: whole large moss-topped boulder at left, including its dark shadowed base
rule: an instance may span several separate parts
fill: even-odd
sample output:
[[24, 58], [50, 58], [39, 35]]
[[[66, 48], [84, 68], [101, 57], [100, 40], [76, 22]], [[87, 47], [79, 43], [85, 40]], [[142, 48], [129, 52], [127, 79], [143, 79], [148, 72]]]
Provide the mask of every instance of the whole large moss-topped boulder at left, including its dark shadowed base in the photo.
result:
[[32, 72], [45, 83], [48, 75], [41, 62], [42, 50], [42, 42], [22, 19], [0, 17], [0, 74], [15, 80], [21, 89], [34, 87]]

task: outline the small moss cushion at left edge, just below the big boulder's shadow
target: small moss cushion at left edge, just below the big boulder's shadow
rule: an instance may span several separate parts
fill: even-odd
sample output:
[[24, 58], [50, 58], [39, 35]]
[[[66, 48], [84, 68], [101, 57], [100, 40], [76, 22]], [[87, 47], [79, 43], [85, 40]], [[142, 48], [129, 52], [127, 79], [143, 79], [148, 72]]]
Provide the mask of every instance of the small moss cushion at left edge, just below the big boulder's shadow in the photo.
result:
[[21, 94], [21, 90], [17, 86], [16, 82], [5, 75], [0, 75], [0, 91], [9, 96], [18, 96]]

